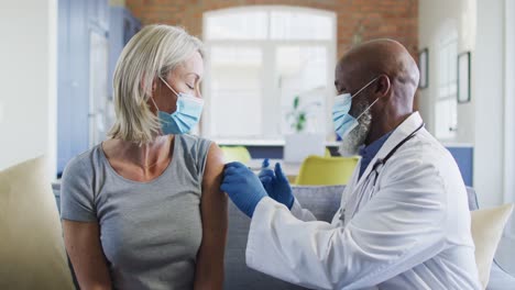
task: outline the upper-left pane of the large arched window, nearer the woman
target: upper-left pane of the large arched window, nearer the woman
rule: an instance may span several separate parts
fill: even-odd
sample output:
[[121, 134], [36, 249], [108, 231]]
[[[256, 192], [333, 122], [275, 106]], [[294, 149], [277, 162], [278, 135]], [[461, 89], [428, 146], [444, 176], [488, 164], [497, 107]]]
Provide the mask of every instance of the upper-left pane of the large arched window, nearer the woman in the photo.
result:
[[207, 18], [207, 40], [265, 40], [269, 19], [264, 11], [238, 11]]

